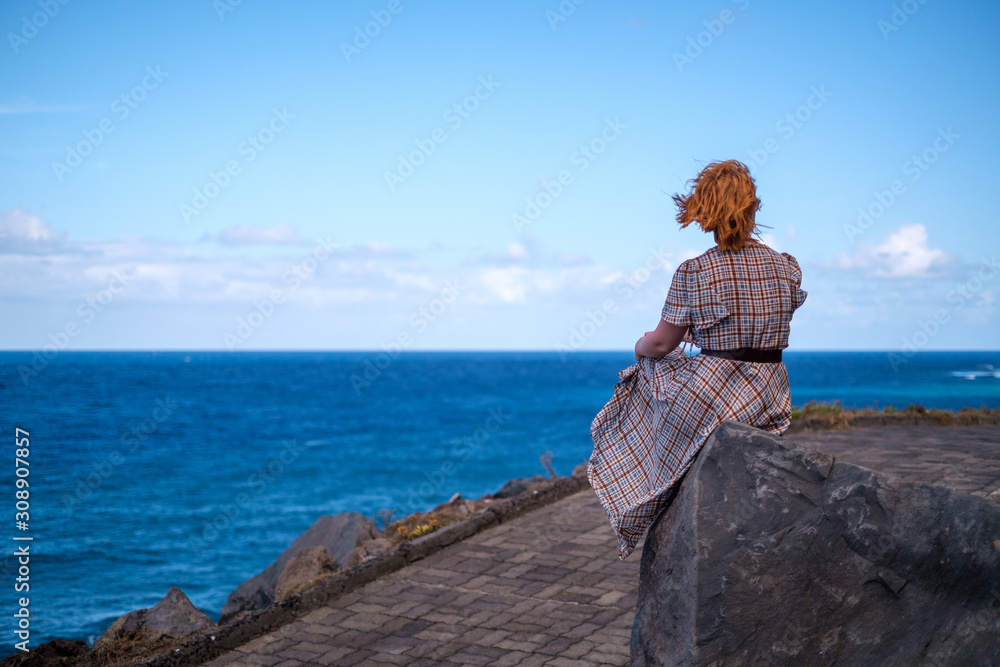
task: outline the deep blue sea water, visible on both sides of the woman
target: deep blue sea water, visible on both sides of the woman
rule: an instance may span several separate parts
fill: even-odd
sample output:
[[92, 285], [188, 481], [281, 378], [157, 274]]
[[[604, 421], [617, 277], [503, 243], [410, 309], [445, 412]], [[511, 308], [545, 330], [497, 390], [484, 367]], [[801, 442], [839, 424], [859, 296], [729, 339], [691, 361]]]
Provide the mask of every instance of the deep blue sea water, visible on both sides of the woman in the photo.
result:
[[[319, 516], [397, 516], [586, 460], [628, 352], [0, 353], [3, 558], [30, 646], [99, 637], [171, 586], [217, 620], [226, 596]], [[36, 360], [37, 361], [37, 360]], [[899, 359], [897, 358], [897, 362]], [[786, 351], [792, 401], [1000, 407], [1000, 352]], [[381, 366], [381, 368], [380, 368]], [[23, 371], [23, 368], [21, 369]], [[30, 433], [29, 530], [14, 525], [15, 428]], [[610, 530], [610, 528], [609, 528]], [[14, 592], [29, 534], [30, 592]], [[14, 651], [14, 619], [0, 630]], [[7, 639], [9, 638], [9, 639]]]

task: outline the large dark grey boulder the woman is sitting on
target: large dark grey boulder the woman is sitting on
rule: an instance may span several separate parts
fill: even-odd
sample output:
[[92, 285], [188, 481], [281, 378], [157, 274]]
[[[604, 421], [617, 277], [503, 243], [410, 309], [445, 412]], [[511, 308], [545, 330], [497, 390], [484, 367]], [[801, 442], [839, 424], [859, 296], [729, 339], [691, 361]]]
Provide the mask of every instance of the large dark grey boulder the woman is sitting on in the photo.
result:
[[724, 422], [647, 534], [630, 664], [1000, 664], [998, 537], [984, 498]]

